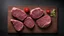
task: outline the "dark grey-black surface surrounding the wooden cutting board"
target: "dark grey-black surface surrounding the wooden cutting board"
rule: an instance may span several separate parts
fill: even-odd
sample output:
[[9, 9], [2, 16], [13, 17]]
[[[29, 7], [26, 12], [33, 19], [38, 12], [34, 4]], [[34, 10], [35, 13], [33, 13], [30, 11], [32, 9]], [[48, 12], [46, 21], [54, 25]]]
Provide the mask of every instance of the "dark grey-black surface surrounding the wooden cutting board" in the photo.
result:
[[64, 4], [62, 0], [0, 0], [0, 35], [18, 36], [18, 34], [8, 34], [7, 16], [8, 6], [42, 5], [56, 6], [58, 8], [58, 33], [57, 34], [22, 34], [22, 36], [56, 36], [64, 33]]

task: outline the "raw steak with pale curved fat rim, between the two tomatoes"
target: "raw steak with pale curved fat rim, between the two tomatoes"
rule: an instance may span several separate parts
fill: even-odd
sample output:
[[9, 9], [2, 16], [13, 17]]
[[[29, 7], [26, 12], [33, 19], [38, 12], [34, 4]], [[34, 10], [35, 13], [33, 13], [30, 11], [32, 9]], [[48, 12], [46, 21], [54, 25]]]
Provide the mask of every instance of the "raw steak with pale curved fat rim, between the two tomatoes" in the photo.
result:
[[32, 18], [37, 19], [43, 15], [43, 10], [41, 8], [34, 8], [30, 11], [30, 15]]

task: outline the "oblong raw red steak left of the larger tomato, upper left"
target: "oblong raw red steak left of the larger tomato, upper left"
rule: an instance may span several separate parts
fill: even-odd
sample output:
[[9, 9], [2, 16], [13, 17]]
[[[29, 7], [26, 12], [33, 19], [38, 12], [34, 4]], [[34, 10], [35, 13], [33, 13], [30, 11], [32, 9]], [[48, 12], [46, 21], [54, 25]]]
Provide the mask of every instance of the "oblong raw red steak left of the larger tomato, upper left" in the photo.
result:
[[27, 14], [23, 10], [16, 7], [13, 7], [11, 12], [12, 16], [16, 17], [21, 21], [23, 21], [27, 17]]

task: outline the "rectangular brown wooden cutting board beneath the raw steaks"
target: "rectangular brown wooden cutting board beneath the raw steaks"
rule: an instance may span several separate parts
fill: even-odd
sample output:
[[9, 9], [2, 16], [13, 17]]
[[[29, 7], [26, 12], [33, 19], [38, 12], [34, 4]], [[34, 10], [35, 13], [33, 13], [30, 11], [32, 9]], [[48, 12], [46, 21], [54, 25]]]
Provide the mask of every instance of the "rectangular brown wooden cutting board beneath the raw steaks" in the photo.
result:
[[52, 23], [51, 25], [46, 28], [46, 29], [40, 29], [36, 24], [35, 27], [33, 28], [33, 30], [28, 29], [26, 26], [24, 26], [24, 29], [20, 32], [22, 33], [57, 33], [57, 8], [55, 6], [9, 6], [8, 7], [8, 33], [17, 33], [14, 29], [14, 27], [12, 26], [12, 23], [10, 22], [10, 19], [12, 18], [11, 16], [11, 9], [13, 7], [17, 7], [20, 9], [24, 9], [25, 7], [28, 7], [30, 10], [40, 7], [43, 10], [46, 9], [56, 9], [56, 17], [51, 17], [52, 18]]

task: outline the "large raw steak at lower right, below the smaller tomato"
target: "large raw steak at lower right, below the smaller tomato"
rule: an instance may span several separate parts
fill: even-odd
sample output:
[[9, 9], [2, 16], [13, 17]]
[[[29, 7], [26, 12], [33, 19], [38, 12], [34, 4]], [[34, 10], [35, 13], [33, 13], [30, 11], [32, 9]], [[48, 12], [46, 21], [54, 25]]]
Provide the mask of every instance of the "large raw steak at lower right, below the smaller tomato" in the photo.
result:
[[36, 20], [36, 23], [41, 28], [46, 28], [51, 23], [51, 17], [49, 15], [44, 15], [40, 19]]

